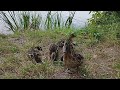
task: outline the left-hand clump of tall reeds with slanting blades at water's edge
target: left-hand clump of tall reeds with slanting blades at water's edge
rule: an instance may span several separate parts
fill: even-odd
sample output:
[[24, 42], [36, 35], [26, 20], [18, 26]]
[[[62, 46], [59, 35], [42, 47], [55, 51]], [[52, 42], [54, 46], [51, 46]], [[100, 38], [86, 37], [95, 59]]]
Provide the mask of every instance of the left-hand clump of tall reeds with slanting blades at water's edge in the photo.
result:
[[41, 17], [36, 13], [31, 15], [29, 11], [14, 12], [8, 11], [0, 12], [1, 19], [7, 24], [7, 28], [13, 32], [18, 30], [39, 29], [41, 24]]

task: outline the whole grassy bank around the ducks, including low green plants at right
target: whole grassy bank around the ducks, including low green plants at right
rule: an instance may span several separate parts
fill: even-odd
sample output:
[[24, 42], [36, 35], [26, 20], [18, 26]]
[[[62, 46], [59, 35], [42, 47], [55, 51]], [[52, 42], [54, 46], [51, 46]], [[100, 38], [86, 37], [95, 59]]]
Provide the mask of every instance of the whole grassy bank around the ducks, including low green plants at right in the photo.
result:
[[[60, 62], [53, 64], [49, 60], [49, 45], [65, 39], [72, 32], [77, 35], [74, 39], [75, 50], [85, 57], [80, 68], [82, 76], [119, 78], [120, 46], [119, 39], [116, 38], [118, 27], [110, 28], [109, 32], [106, 32], [106, 27], [87, 27], [81, 30], [25, 30], [13, 35], [0, 35], [0, 78], [54, 78], [53, 76], [64, 67]], [[43, 64], [33, 64], [26, 55], [29, 48], [37, 45], [43, 48]]]

